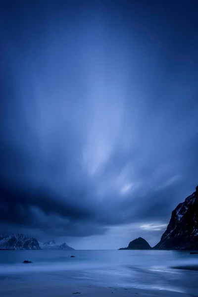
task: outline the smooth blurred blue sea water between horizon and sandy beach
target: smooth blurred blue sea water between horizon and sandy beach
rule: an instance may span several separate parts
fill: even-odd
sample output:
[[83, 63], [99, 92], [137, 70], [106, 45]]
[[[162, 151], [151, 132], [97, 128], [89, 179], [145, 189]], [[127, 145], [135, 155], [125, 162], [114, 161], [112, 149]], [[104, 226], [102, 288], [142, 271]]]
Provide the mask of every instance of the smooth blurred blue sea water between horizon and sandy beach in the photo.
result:
[[[23, 264], [24, 260], [33, 263]], [[197, 267], [198, 255], [187, 251], [5, 250], [0, 251], [0, 296], [17, 296], [8, 294], [12, 286], [20, 290], [27, 284], [37, 288], [83, 284], [168, 290], [198, 297]]]

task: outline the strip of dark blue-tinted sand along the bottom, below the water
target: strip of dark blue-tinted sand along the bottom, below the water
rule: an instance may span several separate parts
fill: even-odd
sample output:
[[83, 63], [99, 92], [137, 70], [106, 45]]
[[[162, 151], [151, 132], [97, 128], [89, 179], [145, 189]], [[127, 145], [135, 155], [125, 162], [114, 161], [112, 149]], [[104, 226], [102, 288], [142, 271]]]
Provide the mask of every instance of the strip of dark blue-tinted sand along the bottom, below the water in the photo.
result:
[[190, 297], [184, 293], [136, 289], [127, 287], [100, 287], [92, 285], [60, 285], [55, 283], [38, 287], [37, 283], [25, 283], [23, 287], [17, 282], [4, 286], [0, 282], [0, 296], [6, 297]]

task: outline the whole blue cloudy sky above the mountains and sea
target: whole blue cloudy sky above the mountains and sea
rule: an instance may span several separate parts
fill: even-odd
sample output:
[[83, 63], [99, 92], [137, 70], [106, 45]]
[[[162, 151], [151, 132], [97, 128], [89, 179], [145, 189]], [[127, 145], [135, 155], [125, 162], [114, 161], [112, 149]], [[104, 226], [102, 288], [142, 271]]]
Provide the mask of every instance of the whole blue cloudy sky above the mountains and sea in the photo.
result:
[[0, 2], [0, 234], [157, 244], [198, 185], [198, 2]]

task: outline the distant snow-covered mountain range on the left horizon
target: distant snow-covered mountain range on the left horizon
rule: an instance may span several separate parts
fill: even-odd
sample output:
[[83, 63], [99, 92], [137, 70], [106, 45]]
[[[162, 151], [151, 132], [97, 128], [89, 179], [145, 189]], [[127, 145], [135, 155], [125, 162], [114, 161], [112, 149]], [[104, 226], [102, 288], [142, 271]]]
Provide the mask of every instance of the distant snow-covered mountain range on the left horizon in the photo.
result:
[[74, 250], [74, 248], [67, 246], [66, 243], [56, 245], [54, 240], [48, 243], [42, 243], [34, 237], [23, 234], [12, 234], [7, 237], [0, 236], [0, 249], [33, 249], [33, 250]]

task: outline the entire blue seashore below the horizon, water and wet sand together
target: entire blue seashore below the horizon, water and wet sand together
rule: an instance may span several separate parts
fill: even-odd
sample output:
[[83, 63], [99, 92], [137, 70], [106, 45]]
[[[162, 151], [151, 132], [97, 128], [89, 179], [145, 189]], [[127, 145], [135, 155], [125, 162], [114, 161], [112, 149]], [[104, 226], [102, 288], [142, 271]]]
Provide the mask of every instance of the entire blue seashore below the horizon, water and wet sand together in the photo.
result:
[[[74, 255], [38, 250], [0, 253], [0, 296], [198, 297], [197, 255], [152, 250], [76, 250]], [[32, 263], [23, 264], [24, 260]]]

